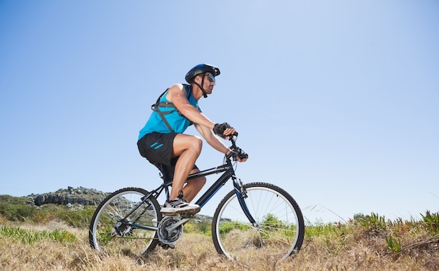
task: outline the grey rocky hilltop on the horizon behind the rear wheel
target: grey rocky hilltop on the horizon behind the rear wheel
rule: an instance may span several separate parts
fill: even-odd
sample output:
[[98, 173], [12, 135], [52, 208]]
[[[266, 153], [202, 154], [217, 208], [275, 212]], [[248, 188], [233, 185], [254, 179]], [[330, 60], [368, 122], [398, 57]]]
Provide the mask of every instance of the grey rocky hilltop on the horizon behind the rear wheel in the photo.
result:
[[30, 194], [28, 202], [41, 206], [43, 204], [81, 204], [81, 205], [97, 205], [107, 197], [109, 193], [97, 191], [86, 187], [67, 187], [56, 192], [44, 194]]

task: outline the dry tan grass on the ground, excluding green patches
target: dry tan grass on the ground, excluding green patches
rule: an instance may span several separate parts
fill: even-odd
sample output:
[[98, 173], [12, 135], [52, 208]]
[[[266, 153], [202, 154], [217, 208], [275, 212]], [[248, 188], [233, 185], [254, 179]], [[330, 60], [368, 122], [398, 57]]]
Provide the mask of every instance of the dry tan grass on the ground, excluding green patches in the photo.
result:
[[[6, 221], [0, 220], [1, 224], [13, 227]], [[212, 239], [201, 234], [185, 233], [175, 249], [157, 247], [146, 258], [133, 258], [101, 256], [88, 245], [87, 230], [63, 223], [15, 226], [37, 231], [65, 229], [77, 240], [41, 240], [30, 245], [0, 236], [1, 270], [439, 270], [438, 237], [404, 227], [392, 228], [403, 236], [399, 253], [386, 245], [389, 232], [349, 227], [342, 234], [306, 237], [302, 250], [285, 261], [254, 258], [236, 263], [219, 256]]]

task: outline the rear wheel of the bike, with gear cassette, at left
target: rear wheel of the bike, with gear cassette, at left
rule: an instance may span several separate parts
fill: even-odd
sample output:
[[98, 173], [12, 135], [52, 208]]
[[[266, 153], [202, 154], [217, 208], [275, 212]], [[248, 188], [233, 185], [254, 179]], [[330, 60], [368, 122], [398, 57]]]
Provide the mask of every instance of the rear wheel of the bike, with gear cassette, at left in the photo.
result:
[[[133, 223], [156, 226], [161, 220], [160, 206], [156, 198], [150, 197], [142, 203], [142, 197], [147, 194], [149, 192], [142, 188], [127, 187], [105, 198], [90, 222], [90, 246], [100, 253], [107, 254], [141, 256], [152, 251], [158, 244], [157, 231], [131, 227]], [[131, 211], [133, 213], [126, 220], [121, 220]], [[116, 226], [118, 222], [119, 226]]]

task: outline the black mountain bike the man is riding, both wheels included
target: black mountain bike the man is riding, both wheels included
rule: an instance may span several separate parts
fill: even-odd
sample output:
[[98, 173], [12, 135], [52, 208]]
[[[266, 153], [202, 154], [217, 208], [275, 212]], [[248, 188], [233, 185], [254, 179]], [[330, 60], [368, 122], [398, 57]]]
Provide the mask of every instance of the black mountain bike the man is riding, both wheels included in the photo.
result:
[[[248, 157], [231, 136], [231, 152], [221, 166], [188, 176], [222, 173], [196, 201], [203, 207], [212, 196], [232, 180], [234, 189], [219, 202], [212, 218], [215, 249], [230, 260], [288, 258], [299, 251], [304, 240], [304, 219], [295, 199], [281, 187], [270, 183], [246, 183], [235, 176], [236, 157]], [[89, 241], [101, 253], [145, 256], [159, 245], [173, 248], [182, 237], [183, 226], [193, 214], [163, 216], [157, 197], [172, 185], [170, 174], [158, 164], [163, 182], [155, 190], [137, 187], [117, 190], [100, 203], [90, 223]]]

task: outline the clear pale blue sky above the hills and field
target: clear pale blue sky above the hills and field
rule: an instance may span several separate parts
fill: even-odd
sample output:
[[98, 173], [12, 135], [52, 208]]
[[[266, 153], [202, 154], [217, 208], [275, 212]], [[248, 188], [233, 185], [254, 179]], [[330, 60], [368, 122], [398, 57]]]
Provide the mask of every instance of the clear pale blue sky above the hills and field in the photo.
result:
[[[284, 187], [311, 223], [437, 212], [438, 14], [433, 0], [1, 0], [0, 194], [155, 188], [138, 131], [207, 62], [222, 74], [199, 104], [240, 133], [243, 182]], [[221, 162], [205, 143], [197, 165]]]

